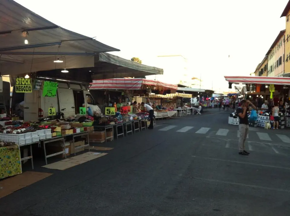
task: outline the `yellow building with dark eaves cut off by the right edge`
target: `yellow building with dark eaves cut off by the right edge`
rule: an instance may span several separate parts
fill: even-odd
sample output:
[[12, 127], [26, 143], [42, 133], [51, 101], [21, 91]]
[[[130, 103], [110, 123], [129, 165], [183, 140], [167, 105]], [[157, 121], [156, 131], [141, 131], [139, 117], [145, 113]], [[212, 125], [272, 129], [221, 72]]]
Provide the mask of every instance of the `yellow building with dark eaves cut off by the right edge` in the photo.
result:
[[285, 29], [285, 71], [284, 74], [290, 73], [290, 1], [288, 1], [281, 17], [285, 17], [286, 29]]

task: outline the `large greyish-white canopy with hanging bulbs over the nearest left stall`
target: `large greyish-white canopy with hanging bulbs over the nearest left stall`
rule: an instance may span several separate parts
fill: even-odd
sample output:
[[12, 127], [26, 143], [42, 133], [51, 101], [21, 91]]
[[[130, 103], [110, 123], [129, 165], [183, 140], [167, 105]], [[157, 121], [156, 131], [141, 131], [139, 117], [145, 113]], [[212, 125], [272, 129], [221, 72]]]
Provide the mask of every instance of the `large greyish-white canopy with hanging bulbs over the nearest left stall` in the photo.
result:
[[[31, 71], [52, 70], [59, 65], [53, 64], [53, 59], [69, 62], [67, 56], [89, 56], [90, 64], [94, 66], [93, 57], [100, 52], [120, 51], [111, 46], [64, 28], [40, 17], [34, 12], [24, 8], [12, 0], [0, 1], [0, 64], [2, 75], [27, 73], [22, 68], [30, 65]], [[28, 41], [28, 44], [24, 43]], [[76, 68], [75, 60], [71, 58], [71, 64], [62, 65], [66, 68]], [[40, 63], [51, 62], [42, 69]], [[34, 63], [39, 64], [34, 67]], [[32, 66], [31, 66], [32, 65]], [[80, 65], [79, 67], [84, 67]], [[19, 73], [18, 73], [19, 74]]]

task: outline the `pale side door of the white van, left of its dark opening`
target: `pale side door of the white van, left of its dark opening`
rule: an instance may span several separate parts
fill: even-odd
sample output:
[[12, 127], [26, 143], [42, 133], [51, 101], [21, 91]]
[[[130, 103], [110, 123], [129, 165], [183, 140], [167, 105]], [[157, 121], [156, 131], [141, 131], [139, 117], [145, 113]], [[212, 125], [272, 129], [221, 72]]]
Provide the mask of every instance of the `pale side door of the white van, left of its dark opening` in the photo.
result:
[[65, 114], [65, 117], [66, 118], [67, 117], [74, 117], [75, 116], [75, 105], [74, 105], [72, 89], [69, 89], [68, 87], [67, 88], [60, 88], [60, 84], [66, 84], [66, 83], [59, 83], [59, 88], [57, 89], [60, 111], [61, 111], [61, 109], [65, 108], [65, 110], [62, 111]]

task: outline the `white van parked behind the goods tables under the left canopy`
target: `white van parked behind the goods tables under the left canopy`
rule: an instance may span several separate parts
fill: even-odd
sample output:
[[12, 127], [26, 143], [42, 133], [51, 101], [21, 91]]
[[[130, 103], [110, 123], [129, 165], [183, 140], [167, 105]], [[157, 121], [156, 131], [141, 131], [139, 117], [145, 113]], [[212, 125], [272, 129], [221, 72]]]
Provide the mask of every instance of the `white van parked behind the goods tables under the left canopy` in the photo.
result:
[[[14, 89], [12, 94], [12, 110], [17, 103], [23, 100], [24, 121], [37, 121], [40, 118], [48, 117], [50, 107], [55, 108], [56, 112], [65, 109], [62, 111], [65, 118], [79, 116], [79, 108], [83, 107], [83, 105], [85, 105], [86, 110], [88, 110], [90, 105], [97, 107], [93, 106], [95, 101], [82, 83], [59, 82], [55, 97], [43, 97], [42, 89], [32, 90], [32, 93], [15, 93]], [[97, 109], [99, 108], [97, 107]]]

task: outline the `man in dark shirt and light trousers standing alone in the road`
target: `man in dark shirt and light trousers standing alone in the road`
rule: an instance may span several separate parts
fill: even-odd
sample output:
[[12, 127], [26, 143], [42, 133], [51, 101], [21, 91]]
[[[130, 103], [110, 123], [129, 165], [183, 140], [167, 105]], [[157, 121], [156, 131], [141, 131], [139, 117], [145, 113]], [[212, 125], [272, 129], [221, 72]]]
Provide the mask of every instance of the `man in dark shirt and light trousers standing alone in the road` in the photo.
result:
[[242, 100], [240, 103], [241, 103], [241, 106], [237, 108], [237, 114], [240, 118], [239, 154], [249, 155], [250, 153], [245, 150], [245, 142], [246, 142], [247, 135], [249, 133], [249, 120], [248, 120], [247, 111], [249, 110], [249, 105], [251, 105], [253, 109], [255, 110], [257, 108], [249, 100]]

